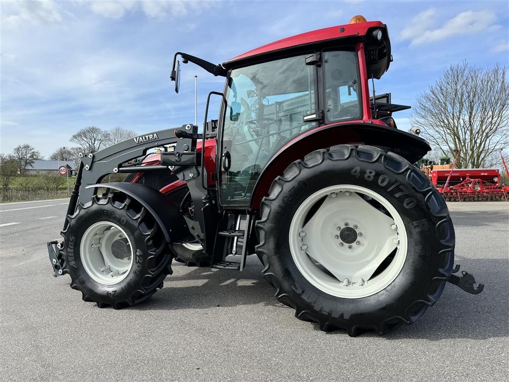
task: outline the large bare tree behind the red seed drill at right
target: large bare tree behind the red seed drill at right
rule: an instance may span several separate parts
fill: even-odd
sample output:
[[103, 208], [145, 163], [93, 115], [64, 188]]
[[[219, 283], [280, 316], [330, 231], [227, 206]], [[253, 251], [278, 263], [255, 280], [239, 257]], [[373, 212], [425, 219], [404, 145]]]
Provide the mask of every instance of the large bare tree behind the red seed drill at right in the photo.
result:
[[457, 167], [493, 166], [494, 153], [509, 144], [507, 66], [477, 68], [467, 62], [451, 65], [414, 106], [410, 122]]

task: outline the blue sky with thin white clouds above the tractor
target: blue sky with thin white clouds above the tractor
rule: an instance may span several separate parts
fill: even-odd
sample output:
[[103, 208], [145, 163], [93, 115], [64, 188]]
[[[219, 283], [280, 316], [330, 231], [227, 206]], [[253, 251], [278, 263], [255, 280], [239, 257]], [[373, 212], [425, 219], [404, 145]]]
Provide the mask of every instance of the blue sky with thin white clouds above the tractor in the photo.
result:
[[[77, 130], [122, 126], [138, 133], [199, 121], [223, 79], [182, 66], [175, 51], [220, 63], [268, 42], [353, 15], [388, 25], [394, 62], [377, 93], [412, 105], [451, 63], [508, 62], [509, 3], [500, 2], [9, 2], [1, 7], [1, 142], [30, 143], [48, 157]], [[214, 116], [215, 117], [215, 116]], [[408, 128], [408, 113], [395, 115]]]

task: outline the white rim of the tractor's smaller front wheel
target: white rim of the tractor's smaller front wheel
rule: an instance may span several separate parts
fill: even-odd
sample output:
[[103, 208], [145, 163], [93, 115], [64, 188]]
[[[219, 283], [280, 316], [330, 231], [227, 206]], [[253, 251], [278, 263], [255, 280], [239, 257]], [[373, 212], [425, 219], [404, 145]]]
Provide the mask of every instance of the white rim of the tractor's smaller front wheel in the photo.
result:
[[[112, 245], [123, 241], [125, 251], [114, 255]], [[104, 285], [114, 285], [124, 280], [133, 264], [133, 249], [129, 236], [115, 223], [98, 222], [83, 234], [79, 245], [81, 264], [87, 274]]]

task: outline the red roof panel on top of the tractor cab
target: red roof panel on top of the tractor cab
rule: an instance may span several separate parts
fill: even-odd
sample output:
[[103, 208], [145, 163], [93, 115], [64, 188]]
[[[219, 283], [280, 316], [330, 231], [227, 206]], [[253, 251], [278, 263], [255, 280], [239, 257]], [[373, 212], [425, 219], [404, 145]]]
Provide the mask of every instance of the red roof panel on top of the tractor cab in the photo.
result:
[[231, 60], [223, 63], [225, 68], [235, 65], [239, 61], [262, 56], [277, 50], [297, 47], [299, 45], [307, 45], [314, 42], [322, 42], [334, 39], [343, 39], [345, 37], [365, 36], [370, 28], [386, 28], [385, 24], [380, 21], [365, 21], [345, 25], [329, 26], [328, 28], [317, 29], [301, 33], [299, 35], [287, 37], [281, 40], [262, 45], [258, 48], [251, 49]]

